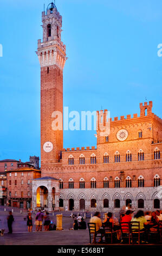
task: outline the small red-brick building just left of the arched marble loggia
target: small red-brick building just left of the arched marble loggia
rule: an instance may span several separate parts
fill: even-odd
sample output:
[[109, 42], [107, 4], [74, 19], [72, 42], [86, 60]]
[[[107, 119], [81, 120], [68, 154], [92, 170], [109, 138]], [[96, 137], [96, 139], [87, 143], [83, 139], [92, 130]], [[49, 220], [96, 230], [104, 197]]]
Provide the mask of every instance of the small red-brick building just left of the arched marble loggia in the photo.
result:
[[31, 180], [40, 177], [41, 170], [35, 169], [30, 164], [14, 170], [7, 170], [7, 205], [23, 209], [31, 208]]

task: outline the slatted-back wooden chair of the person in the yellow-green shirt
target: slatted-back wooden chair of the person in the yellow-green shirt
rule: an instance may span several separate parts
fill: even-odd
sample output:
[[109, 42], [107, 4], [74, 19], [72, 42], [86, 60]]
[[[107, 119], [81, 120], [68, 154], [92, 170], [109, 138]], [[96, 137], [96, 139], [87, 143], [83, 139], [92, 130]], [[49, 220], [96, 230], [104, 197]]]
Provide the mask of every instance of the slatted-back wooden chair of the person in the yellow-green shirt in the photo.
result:
[[140, 244], [141, 236], [145, 235], [145, 231], [140, 231], [140, 222], [139, 221], [131, 221], [130, 222], [130, 233], [133, 239], [138, 240], [138, 244]]

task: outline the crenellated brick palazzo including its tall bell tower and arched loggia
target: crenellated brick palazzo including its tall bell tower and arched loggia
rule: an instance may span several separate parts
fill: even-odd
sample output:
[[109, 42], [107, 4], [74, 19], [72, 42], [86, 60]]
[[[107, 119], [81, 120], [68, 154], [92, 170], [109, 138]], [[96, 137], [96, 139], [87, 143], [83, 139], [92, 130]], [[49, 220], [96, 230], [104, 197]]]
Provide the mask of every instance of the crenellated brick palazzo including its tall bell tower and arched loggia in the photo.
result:
[[[162, 208], [162, 120], [152, 101], [140, 103], [140, 115], [108, 119], [96, 111], [95, 147], [63, 149], [63, 131], [53, 129], [56, 111], [63, 113], [62, 17], [54, 3], [42, 12], [41, 178], [33, 181], [33, 209], [119, 212]], [[110, 131], [103, 133], [109, 122]]]

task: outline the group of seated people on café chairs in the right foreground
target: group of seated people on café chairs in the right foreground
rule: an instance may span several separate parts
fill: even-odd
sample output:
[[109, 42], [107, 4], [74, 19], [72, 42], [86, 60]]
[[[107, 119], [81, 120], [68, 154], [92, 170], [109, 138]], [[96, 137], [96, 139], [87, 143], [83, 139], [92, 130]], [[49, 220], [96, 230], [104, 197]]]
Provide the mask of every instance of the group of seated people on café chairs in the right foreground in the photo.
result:
[[[95, 212], [94, 216], [90, 218], [90, 223], [95, 223], [96, 231], [101, 234], [99, 242], [102, 242], [102, 239], [105, 236], [104, 227], [106, 226], [106, 223], [112, 223], [112, 229], [113, 231], [116, 231], [117, 240], [122, 242], [121, 231], [126, 232], [128, 230], [129, 225], [127, 225], [127, 223], [139, 222], [139, 229], [140, 231], [144, 231], [145, 234], [145, 241], [143, 242], [148, 243], [148, 232], [156, 232], [159, 228], [160, 221], [162, 222], [162, 212], [159, 210], [152, 212], [147, 211], [145, 214], [142, 210], [139, 210], [136, 214], [134, 214], [134, 211], [132, 210], [127, 210], [125, 214], [120, 214], [119, 220], [113, 216], [112, 212], [108, 212], [107, 217], [103, 222], [100, 218], [100, 212]], [[138, 225], [134, 225], [133, 229], [138, 229]]]

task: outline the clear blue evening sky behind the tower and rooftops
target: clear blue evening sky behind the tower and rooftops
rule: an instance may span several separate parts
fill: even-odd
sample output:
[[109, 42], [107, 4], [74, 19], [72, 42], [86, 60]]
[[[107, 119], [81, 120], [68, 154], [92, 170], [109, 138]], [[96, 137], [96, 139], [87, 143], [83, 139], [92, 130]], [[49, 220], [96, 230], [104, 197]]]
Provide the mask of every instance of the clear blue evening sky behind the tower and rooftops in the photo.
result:
[[[41, 14], [47, 0], [1, 0], [0, 159], [40, 156]], [[140, 113], [153, 101], [161, 117], [162, 2], [56, 0], [67, 47], [63, 105], [69, 111], [108, 109], [111, 117]], [[95, 131], [65, 131], [64, 148], [96, 146]]]

